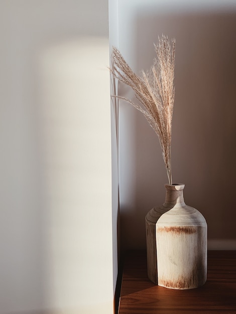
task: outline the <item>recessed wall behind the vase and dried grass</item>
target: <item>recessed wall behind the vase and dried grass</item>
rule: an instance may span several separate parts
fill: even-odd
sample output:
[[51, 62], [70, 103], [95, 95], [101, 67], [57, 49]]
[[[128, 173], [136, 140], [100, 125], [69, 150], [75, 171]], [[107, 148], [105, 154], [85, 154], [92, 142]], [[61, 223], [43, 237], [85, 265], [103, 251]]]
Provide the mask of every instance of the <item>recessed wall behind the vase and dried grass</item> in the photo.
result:
[[[205, 216], [208, 247], [236, 249], [236, 1], [119, 0], [118, 17], [117, 47], [136, 73], [152, 65], [158, 35], [176, 38], [173, 180]], [[145, 248], [145, 215], [163, 203], [167, 175], [142, 114], [120, 102], [119, 119], [122, 247]]]

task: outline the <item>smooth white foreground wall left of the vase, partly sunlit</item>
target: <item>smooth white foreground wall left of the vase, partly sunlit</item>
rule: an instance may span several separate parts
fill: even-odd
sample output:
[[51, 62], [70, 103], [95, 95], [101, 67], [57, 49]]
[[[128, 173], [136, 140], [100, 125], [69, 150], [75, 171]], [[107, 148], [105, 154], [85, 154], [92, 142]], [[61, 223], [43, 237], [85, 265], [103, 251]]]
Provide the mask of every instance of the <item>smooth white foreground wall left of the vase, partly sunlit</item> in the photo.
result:
[[0, 15], [0, 313], [110, 314], [108, 2], [1, 1]]

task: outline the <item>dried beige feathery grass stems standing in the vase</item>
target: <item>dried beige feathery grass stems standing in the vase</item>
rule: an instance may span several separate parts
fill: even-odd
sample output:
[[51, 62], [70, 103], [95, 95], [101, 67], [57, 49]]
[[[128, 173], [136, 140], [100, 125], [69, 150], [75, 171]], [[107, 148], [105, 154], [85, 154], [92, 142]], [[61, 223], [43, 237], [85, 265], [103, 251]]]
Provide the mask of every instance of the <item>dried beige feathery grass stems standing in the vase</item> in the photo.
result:
[[158, 37], [158, 44], [154, 45], [157, 59], [148, 72], [136, 75], [127, 64], [117, 48], [112, 49], [110, 71], [114, 78], [130, 86], [138, 99], [138, 104], [122, 96], [141, 111], [151, 127], [159, 136], [163, 159], [166, 166], [169, 184], [172, 185], [171, 173], [171, 132], [174, 105], [174, 62], [175, 40], [172, 46], [167, 37]]

